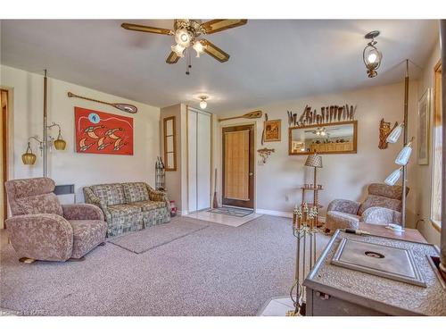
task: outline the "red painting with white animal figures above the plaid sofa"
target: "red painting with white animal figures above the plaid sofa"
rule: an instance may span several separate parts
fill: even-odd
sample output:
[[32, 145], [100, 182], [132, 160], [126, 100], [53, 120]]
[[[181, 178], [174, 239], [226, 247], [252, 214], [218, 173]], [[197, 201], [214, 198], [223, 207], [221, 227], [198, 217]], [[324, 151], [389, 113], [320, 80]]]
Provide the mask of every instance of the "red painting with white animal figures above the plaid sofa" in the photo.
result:
[[74, 107], [76, 152], [133, 155], [133, 118]]

